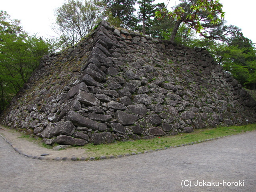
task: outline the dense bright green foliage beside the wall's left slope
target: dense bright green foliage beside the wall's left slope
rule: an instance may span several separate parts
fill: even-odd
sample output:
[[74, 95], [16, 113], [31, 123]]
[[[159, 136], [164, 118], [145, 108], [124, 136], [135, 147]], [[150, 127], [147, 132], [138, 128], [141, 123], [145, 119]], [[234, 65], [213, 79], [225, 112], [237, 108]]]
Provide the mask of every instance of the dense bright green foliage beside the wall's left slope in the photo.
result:
[[0, 11], [0, 110], [18, 92], [38, 66], [50, 43], [22, 30], [19, 20]]

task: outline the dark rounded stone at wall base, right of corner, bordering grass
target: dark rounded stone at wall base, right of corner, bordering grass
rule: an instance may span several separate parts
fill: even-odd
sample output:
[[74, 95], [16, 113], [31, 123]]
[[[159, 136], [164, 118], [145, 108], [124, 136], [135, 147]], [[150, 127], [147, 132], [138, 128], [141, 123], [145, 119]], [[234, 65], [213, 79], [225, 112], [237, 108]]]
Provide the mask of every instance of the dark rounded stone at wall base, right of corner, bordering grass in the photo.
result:
[[114, 142], [114, 136], [110, 132], [94, 133], [90, 138], [90, 143], [98, 144], [109, 144]]

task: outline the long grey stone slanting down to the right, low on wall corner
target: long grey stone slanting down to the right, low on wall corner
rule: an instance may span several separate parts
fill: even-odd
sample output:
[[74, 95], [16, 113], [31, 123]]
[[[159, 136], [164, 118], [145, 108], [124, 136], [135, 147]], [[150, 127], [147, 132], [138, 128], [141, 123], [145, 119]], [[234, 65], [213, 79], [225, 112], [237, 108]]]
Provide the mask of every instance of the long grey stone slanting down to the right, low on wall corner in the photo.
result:
[[76, 126], [82, 126], [91, 128], [92, 130], [98, 130], [98, 123], [89, 118], [86, 118], [77, 112], [69, 111], [66, 116], [66, 120], [70, 120]]

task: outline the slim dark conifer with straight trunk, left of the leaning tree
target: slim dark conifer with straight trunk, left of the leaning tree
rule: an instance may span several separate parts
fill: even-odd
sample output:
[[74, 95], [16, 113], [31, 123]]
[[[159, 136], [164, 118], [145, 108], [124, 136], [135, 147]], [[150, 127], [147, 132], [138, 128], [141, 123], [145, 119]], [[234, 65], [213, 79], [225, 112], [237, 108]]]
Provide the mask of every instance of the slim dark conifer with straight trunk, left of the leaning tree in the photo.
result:
[[[140, 0], [138, 1], [139, 4], [139, 12], [138, 12], [138, 18], [139, 20], [142, 20], [142, 32], [143, 35], [146, 35], [146, 29], [150, 28], [151, 26], [151, 19], [150, 17], [154, 16], [155, 12], [155, 4], [152, 4], [154, 0]], [[147, 29], [148, 31], [149, 29]]]

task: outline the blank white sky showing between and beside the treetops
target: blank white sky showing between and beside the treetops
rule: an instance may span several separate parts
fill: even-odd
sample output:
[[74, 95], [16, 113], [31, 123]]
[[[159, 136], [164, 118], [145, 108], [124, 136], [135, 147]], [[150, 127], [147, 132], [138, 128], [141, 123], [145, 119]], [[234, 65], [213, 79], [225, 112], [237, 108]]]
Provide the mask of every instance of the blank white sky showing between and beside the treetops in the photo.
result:
[[[67, 0], [68, 1], [68, 0]], [[179, 0], [170, 0], [171, 6], [179, 4]], [[54, 36], [51, 24], [54, 22], [54, 9], [62, 6], [64, 0], [2, 0], [0, 10], [6, 11], [12, 19], [21, 20], [23, 29], [30, 34], [38, 34], [46, 38]], [[168, 0], [156, 0], [155, 3]], [[245, 37], [256, 43], [256, 22], [254, 21], [255, 0], [220, 0], [226, 12], [227, 24], [242, 28]]]

